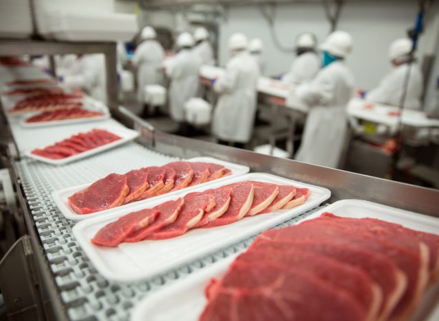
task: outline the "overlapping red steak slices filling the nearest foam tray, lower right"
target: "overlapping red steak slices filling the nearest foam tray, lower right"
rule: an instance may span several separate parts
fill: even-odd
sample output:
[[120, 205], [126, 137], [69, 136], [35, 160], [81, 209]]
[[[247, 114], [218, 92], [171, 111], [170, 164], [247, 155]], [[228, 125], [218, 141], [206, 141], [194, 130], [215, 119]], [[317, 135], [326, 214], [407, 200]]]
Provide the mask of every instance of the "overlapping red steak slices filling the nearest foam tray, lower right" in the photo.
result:
[[438, 235], [323, 213], [259, 235], [206, 286], [200, 320], [408, 320], [438, 254]]

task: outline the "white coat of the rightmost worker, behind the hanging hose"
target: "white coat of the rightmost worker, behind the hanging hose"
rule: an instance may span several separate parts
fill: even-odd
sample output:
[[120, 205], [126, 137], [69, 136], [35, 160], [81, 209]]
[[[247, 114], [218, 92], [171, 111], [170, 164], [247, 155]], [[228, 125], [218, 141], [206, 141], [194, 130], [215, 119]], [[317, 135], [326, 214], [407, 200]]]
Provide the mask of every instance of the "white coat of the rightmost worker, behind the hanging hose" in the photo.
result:
[[[404, 108], [418, 110], [420, 109], [420, 97], [423, 92], [423, 73], [420, 71], [419, 65], [416, 62], [413, 62], [411, 66]], [[408, 68], [409, 64], [401, 64], [394, 67], [394, 69], [379, 82], [377, 88], [367, 93], [366, 99], [379, 104], [399, 106], [399, 104], [401, 104]]]

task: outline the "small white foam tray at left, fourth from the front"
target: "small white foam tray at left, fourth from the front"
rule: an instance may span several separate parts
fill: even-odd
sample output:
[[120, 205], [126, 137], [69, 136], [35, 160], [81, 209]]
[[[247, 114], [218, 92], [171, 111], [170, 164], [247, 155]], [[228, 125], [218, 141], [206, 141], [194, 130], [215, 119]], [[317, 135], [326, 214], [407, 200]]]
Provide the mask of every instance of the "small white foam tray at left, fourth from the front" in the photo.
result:
[[[117, 136], [121, 137], [121, 139], [118, 139], [117, 141], [113, 141], [112, 143], [108, 143], [106, 145], [102, 145], [102, 146], [93, 148], [93, 150], [88, 150], [86, 152], [76, 154], [73, 156], [69, 156], [66, 158], [62, 158], [62, 159], [49, 159], [49, 158], [45, 158], [43, 156], [34, 155], [34, 154], [32, 154], [32, 150], [25, 152], [25, 156], [27, 156], [29, 158], [36, 159], [36, 160], [40, 160], [40, 162], [47, 163], [50, 165], [65, 165], [68, 163], [75, 162], [77, 160], [81, 160], [81, 159], [86, 158], [88, 156], [92, 156], [92, 155], [104, 152], [106, 150], [110, 150], [111, 148], [117, 147], [117, 146], [122, 145], [124, 143], [128, 143], [128, 141], [132, 141], [137, 136], [139, 136], [139, 132], [137, 132], [135, 130], [130, 130], [130, 129], [124, 128], [124, 127], [96, 126], [95, 129], [107, 130], [108, 132], [112, 132], [112, 134], [116, 134]], [[62, 141], [63, 139], [67, 139], [69, 137], [60, 137], [60, 141]], [[39, 148], [45, 148], [45, 147], [47, 147], [47, 146], [41, 146]]]

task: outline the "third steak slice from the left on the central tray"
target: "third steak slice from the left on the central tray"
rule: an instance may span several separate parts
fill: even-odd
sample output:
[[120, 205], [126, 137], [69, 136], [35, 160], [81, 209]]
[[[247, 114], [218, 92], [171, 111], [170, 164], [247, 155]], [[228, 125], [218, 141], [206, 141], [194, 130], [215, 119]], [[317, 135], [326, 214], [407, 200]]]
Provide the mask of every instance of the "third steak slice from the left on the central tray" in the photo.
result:
[[145, 239], [170, 239], [183, 235], [200, 222], [204, 212], [211, 211], [214, 206], [215, 197], [212, 194], [189, 193], [185, 195], [185, 204], [174, 223], [161, 228]]

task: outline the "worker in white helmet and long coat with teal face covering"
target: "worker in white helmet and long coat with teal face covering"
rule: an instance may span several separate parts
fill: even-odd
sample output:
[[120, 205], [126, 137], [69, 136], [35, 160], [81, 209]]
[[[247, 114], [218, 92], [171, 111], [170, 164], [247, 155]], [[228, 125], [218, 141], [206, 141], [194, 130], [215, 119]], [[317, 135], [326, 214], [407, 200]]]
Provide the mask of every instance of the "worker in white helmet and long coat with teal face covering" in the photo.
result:
[[352, 47], [350, 34], [331, 33], [321, 46], [322, 70], [296, 90], [298, 98], [309, 106], [296, 160], [326, 167], [340, 165], [347, 136], [346, 105], [354, 91], [353, 74], [344, 59]]

